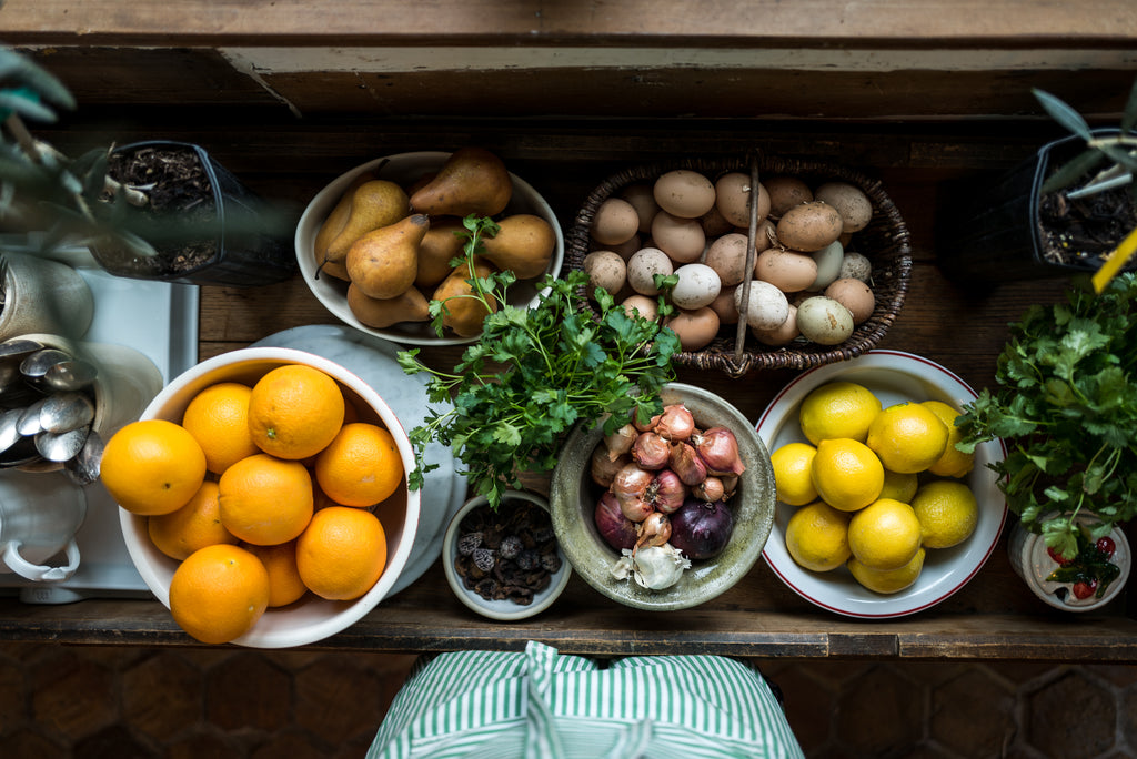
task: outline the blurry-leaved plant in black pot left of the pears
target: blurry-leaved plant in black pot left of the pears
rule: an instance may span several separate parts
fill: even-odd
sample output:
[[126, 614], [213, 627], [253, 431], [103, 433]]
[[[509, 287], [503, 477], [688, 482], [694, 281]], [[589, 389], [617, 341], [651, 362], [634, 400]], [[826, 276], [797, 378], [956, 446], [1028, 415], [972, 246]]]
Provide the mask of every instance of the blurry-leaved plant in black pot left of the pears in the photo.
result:
[[285, 215], [201, 147], [148, 142], [72, 159], [30, 122], [73, 109], [67, 89], [0, 49], [0, 220], [38, 247], [86, 247], [108, 273], [188, 284], [260, 285], [296, 270]]

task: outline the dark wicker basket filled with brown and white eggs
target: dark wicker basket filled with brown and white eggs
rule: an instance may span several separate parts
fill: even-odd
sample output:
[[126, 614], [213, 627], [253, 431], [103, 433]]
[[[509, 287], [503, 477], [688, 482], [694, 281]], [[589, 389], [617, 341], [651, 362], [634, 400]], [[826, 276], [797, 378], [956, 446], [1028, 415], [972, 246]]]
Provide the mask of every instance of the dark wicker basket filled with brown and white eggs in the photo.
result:
[[875, 347], [904, 302], [911, 255], [878, 181], [757, 156], [609, 176], [578, 211], [565, 262], [589, 274], [582, 298], [603, 287], [648, 318], [661, 294], [655, 275], [674, 275], [663, 293], [681, 345], [673, 360], [739, 377]]

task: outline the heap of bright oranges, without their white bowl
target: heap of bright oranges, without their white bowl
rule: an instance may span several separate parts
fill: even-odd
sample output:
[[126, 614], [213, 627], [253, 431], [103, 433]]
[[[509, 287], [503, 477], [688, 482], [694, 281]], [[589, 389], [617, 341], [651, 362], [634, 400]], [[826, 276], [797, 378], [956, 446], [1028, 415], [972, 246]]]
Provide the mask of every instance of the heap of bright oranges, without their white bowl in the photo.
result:
[[371, 507], [404, 482], [390, 432], [360, 422], [333, 377], [301, 364], [252, 386], [210, 385], [181, 424], [126, 425], [100, 468], [110, 495], [180, 562], [171, 612], [204, 643], [240, 637], [308, 593], [367, 593], [387, 565]]

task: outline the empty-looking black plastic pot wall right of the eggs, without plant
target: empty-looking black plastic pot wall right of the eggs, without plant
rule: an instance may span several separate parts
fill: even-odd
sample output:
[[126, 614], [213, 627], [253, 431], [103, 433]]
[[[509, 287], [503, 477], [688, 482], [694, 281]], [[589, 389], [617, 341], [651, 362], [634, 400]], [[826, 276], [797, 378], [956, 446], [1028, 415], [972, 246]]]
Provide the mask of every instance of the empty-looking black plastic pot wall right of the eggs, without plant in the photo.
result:
[[937, 214], [936, 257], [940, 270], [948, 278], [971, 286], [1070, 277], [1097, 270], [1097, 260], [1054, 261], [1043, 252], [1039, 220], [1043, 182], [1055, 164], [1068, 160], [1084, 147], [1081, 137], [1063, 137], [1043, 145], [1035, 156], [994, 180], [970, 177], [948, 185], [946, 200]]

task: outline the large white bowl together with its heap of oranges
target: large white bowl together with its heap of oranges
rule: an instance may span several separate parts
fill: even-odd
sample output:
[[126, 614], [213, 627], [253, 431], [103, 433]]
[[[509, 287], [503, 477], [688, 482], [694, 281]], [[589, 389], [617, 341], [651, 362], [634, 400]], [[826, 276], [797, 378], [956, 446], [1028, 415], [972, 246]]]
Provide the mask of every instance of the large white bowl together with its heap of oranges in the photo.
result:
[[410, 558], [414, 453], [338, 364], [247, 348], [175, 377], [106, 443], [127, 551], [202, 643], [306, 645], [375, 608]]

